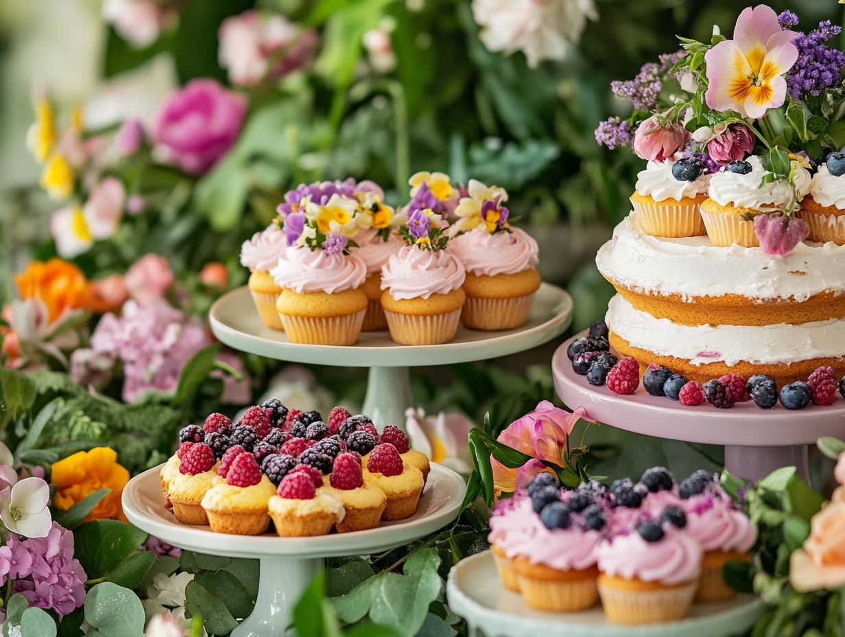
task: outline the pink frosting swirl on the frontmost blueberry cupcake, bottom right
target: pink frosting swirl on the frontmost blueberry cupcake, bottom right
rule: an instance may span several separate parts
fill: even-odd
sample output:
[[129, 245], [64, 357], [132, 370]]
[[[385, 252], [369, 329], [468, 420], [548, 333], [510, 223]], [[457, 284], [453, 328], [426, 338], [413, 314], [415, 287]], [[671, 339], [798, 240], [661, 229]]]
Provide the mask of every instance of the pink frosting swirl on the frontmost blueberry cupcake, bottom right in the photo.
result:
[[691, 582], [701, 575], [701, 546], [684, 531], [665, 529], [657, 542], [639, 533], [617, 535], [596, 549], [602, 573], [624, 579], [660, 582], [672, 586]]

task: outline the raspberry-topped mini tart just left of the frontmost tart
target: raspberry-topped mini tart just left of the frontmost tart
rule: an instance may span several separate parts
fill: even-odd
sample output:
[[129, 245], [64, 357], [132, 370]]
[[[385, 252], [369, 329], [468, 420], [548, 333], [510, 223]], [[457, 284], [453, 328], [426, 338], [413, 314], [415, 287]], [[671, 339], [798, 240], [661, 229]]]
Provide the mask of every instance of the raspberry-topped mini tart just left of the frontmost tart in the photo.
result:
[[236, 535], [261, 535], [267, 530], [267, 502], [275, 486], [262, 475], [252, 453], [239, 453], [226, 470], [226, 482], [221, 476], [215, 482], [202, 500], [211, 530]]

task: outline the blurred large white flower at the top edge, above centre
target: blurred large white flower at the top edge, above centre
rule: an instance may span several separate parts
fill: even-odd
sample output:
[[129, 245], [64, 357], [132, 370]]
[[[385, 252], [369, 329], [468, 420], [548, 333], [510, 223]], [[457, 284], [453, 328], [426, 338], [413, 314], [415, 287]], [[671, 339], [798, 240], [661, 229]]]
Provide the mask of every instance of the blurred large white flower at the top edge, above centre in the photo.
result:
[[593, 0], [472, 0], [490, 51], [524, 52], [528, 66], [563, 59], [581, 37], [586, 19], [596, 19]]

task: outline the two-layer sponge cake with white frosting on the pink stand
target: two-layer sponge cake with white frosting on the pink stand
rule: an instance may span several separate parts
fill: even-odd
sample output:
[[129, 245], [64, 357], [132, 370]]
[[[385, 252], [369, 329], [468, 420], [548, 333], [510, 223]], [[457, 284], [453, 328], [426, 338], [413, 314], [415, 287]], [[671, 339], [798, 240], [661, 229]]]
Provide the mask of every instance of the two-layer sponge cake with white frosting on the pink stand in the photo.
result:
[[643, 369], [667, 365], [697, 381], [767, 374], [779, 385], [819, 365], [845, 373], [845, 246], [766, 255], [706, 236], [652, 237], [627, 217], [596, 261], [619, 293], [610, 343]]

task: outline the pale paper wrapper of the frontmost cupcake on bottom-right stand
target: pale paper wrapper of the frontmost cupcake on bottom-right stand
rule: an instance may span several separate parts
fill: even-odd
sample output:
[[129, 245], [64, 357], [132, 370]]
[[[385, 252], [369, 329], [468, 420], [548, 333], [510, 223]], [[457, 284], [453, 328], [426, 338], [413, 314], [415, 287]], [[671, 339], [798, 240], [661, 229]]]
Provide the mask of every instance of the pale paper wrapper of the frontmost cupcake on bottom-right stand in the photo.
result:
[[604, 614], [613, 623], [637, 625], [671, 622], [690, 611], [698, 581], [662, 590], [623, 590], [598, 582]]

